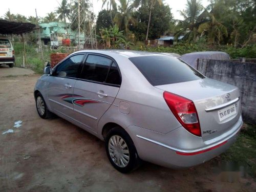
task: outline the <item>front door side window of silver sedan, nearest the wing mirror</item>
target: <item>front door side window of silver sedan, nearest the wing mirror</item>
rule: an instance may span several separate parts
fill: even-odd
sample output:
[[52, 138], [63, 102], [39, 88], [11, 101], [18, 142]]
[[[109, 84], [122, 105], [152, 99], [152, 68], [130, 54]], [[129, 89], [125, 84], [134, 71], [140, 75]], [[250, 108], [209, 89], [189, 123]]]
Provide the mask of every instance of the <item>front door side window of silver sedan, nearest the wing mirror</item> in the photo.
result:
[[57, 67], [56, 75], [60, 77], [76, 77], [83, 56], [82, 54], [67, 58]]

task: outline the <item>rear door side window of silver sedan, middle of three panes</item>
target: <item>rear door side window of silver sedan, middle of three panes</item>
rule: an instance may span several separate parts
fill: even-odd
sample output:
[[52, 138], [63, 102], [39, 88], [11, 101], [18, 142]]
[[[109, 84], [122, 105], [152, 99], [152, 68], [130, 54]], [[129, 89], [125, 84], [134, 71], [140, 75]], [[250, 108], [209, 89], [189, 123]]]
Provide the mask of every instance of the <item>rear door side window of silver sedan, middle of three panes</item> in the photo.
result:
[[81, 75], [82, 79], [105, 82], [112, 60], [98, 55], [89, 55]]

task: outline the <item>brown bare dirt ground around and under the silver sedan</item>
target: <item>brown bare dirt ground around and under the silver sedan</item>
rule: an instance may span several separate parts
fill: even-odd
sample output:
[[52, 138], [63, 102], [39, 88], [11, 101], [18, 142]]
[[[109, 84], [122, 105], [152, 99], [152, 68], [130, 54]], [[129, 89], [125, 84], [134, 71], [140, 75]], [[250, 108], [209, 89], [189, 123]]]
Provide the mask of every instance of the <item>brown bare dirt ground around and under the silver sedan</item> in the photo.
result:
[[[117, 172], [102, 141], [61, 118], [39, 118], [38, 77], [0, 78], [0, 191], [255, 191], [249, 176], [221, 172], [220, 157], [184, 170], [144, 163]], [[22, 126], [14, 128], [17, 120]]]

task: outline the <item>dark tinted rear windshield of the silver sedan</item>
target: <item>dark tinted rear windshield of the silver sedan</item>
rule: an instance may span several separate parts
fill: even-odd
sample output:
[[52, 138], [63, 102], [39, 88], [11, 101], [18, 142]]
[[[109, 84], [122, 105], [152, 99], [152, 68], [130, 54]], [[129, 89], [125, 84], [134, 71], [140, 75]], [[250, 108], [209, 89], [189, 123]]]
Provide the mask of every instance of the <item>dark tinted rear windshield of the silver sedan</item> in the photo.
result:
[[167, 55], [129, 58], [153, 86], [205, 78], [184, 61]]

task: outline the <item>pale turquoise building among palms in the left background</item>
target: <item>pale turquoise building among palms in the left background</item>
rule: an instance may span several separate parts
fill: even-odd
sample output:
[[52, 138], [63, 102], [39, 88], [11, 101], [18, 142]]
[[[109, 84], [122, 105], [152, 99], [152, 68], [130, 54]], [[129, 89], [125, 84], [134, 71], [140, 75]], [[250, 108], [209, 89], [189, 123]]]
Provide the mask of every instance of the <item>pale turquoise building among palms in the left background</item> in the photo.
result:
[[[45, 45], [48, 42], [51, 46], [58, 47], [62, 45], [62, 39], [70, 39], [72, 42], [78, 43], [77, 31], [73, 31], [70, 28], [70, 23], [67, 23], [68, 32], [66, 29], [66, 24], [62, 22], [51, 22], [45, 24], [39, 24], [41, 40], [44, 41]], [[84, 34], [80, 32], [80, 41], [84, 43]]]

